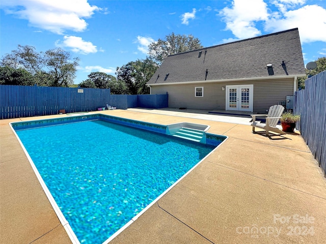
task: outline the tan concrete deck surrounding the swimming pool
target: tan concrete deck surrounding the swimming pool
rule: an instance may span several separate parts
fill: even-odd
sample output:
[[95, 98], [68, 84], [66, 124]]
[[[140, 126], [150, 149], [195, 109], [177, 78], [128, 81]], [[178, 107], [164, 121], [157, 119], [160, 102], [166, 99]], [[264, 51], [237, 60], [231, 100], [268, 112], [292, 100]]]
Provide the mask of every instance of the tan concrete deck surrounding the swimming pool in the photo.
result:
[[[102, 113], [229, 137], [110, 243], [325, 242], [326, 179], [300, 134], [269, 138], [200, 114]], [[0, 243], [71, 243], [8, 125], [62, 116], [0, 120]]]

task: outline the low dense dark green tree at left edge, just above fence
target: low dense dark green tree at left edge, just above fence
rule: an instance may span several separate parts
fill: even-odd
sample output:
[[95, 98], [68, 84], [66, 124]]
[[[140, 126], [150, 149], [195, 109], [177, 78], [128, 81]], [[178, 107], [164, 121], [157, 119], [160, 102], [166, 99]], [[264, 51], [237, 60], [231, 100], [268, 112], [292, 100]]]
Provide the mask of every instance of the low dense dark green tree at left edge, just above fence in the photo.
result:
[[0, 67], [0, 84], [2, 85], [34, 85], [33, 75], [22, 69], [8, 66]]

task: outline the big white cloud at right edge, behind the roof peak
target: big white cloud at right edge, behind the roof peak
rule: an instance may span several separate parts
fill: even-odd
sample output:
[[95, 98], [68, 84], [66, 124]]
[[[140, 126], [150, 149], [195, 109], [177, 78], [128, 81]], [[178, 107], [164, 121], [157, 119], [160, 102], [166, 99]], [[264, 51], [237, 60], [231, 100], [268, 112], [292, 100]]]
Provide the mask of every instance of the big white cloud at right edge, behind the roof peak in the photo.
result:
[[306, 5], [266, 21], [266, 31], [278, 32], [298, 27], [302, 43], [326, 42], [326, 9]]

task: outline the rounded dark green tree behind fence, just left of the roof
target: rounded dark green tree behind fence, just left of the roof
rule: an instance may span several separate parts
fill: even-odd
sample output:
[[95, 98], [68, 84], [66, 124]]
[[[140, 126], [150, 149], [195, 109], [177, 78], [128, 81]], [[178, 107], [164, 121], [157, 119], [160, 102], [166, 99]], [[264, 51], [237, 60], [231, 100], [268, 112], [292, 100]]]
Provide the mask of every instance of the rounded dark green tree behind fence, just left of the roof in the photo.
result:
[[146, 83], [154, 75], [158, 64], [153, 59], [137, 59], [122, 67], [117, 67], [116, 75], [128, 87], [128, 94], [148, 94], [149, 87]]

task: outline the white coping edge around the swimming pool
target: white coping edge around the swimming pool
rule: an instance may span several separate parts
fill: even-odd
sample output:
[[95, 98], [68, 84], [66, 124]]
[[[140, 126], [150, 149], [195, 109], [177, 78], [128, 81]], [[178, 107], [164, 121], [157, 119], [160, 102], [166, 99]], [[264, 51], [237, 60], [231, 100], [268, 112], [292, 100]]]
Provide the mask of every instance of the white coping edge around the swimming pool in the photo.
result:
[[[69, 114], [67, 114], [68, 116], [70, 116]], [[73, 118], [77, 121], [72, 121], [72, 122], [69, 122], [69, 123], [63, 123], [63, 124], [71, 124], [71, 123], [78, 123], [78, 122], [82, 122], [83, 120], [78, 120], [77, 117], [82, 117], [82, 119], [85, 118], [85, 116], [94, 116], [94, 120], [96, 119], [102, 119], [103, 116], [104, 118], [105, 117], [109, 117], [109, 118], [112, 118], [114, 117], [114, 119], [116, 120], [128, 120], [129, 121], [132, 121], [130, 122], [130, 124], [137, 124], [137, 122], [139, 123], [142, 123], [142, 124], [145, 124], [145, 125], [152, 125], [152, 126], [159, 126], [159, 127], [166, 127], [166, 130], [168, 130], [168, 126], [165, 126], [165, 125], [161, 125], [161, 124], [154, 124], [154, 123], [148, 123], [148, 122], [145, 122], [145, 121], [141, 121], [141, 120], [135, 120], [135, 119], [128, 119], [128, 118], [123, 118], [123, 117], [118, 117], [118, 116], [112, 116], [112, 115], [106, 115], [106, 114], [102, 114], [102, 113], [91, 113], [91, 114], [76, 114], [76, 115], [73, 115], [73, 117], [61, 117], [61, 118], [43, 118], [43, 119], [36, 119], [36, 120], [25, 120], [25, 121], [15, 121], [15, 122], [11, 122], [9, 123], [9, 126], [11, 128], [11, 130], [13, 131], [15, 137], [17, 138], [20, 146], [22, 147], [26, 157], [28, 158], [33, 170], [34, 170], [34, 173], [36, 175], [36, 177], [38, 178], [39, 182], [40, 182], [40, 185], [42, 187], [42, 189], [44, 190], [45, 192], [45, 195], [46, 197], [48, 198], [51, 206], [53, 207], [53, 210], [55, 210], [56, 212], [56, 215], [58, 216], [58, 219], [60, 220], [60, 223], [62, 224], [62, 226], [64, 227], [64, 229], [66, 230], [71, 242], [73, 244], [80, 244], [80, 241], [78, 240], [77, 236], [75, 235], [74, 231], [72, 230], [69, 222], [67, 221], [67, 219], [65, 218], [63, 212], [61, 211], [60, 207], [58, 206], [57, 202], [55, 201], [55, 199], [53, 198], [52, 194], [50, 193], [49, 189], [47, 188], [41, 174], [39, 173], [37, 167], [35, 166], [32, 158], [30, 157], [28, 151], [26, 150], [26, 148], [24, 147], [23, 143], [21, 142], [19, 136], [17, 135], [15, 129], [14, 129], [14, 124], [28, 124], [28, 123], [32, 123], [32, 124], [37, 124], [38, 121], [47, 121], [47, 120], [59, 120], [59, 119], [62, 119], [64, 120], [65, 118]], [[97, 117], [96, 117], [97, 116]], [[70, 120], [73, 120], [73, 119], [70, 119]], [[90, 119], [87, 119], [87, 120], [84, 120], [84, 121], [90, 121], [90, 120], [93, 120], [92, 118]], [[110, 120], [110, 119], [108, 119]], [[105, 120], [104, 120], [105, 121]], [[117, 123], [117, 122], [115, 122]], [[39, 123], [40, 124], [40, 123]], [[45, 124], [45, 123], [44, 123]], [[117, 123], [119, 124], [119, 123]], [[128, 126], [126, 124], [129, 124], [129, 123], [123, 123], [121, 125], [124, 125], [124, 126]], [[178, 123], [178, 124], [184, 124], [184, 123]], [[62, 124], [59, 124], [59, 125], [62, 125]], [[130, 125], [129, 125], [130, 126]], [[41, 127], [41, 126], [40, 126]], [[146, 129], [144, 128], [145, 126], [130, 126], [130, 127], [134, 127], [134, 128], [139, 128], [139, 129], [143, 129], [143, 130], [147, 130], [147, 131], [152, 131], [152, 132], [156, 132], [156, 133], [159, 133], [159, 134], [164, 134], [164, 133], [161, 133], [161, 132], [157, 132], [153, 129], [150, 128], [150, 126], [146, 126]], [[39, 127], [33, 127], [34, 128], [39, 128]], [[134, 223], [135, 220], [137, 220], [140, 216], [142, 216], [151, 206], [153, 206], [160, 198], [162, 198], [165, 194], [167, 194], [173, 187], [175, 187], [178, 182], [180, 182], [186, 175], [188, 175], [191, 171], [193, 171], [198, 165], [200, 165], [201, 162], [203, 162], [209, 155], [211, 155], [216, 149], [218, 149], [220, 147], [220, 145], [222, 145], [229, 137], [228, 136], [225, 136], [225, 135], [218, 135], [218, 134], [212, 134], [212, 133], [206, 133], [207, 130], [209, 129], [209, 127], [205, 130], [205, 134], [208, 134], [210, 137], [211, 136], [216, 136], [216, 137], [224, 137], [225, 139], [219, 143], [219, 145], [215, 146], [215, 148], [213, 150], [210, 151], [209, 154], [207, 154], [202, 160], [200, 160], [196, 165], [194, 165], [191, 169], [189, 169], [187, 172], [185, 172], [185, 174], [183, 174], [177, 181], [174, 182], [174, 184], [172, 184], [168, 189], [166, 189], [164, 192], [162, 192], [158, 197], [156, 197], [150, 204], [148, 204], [143, 210], [141, 210], [139, 212], [139, 214], [137, 214], [136, 216], [134, 216], [133, 218], [131, 218], [130, 221], [128, 221], [126, 224], [124, 224], [119, 230], [117, 230], [113, 235], [111, 235], [110, 237], [108, 237], [104, 242], [102, 242], [102, 244], [107, 244], [109, 243], [110, 241], [112, 241], [116, 236], [118, 236], [123, 230], [125, 230], [128, 226], [130, 226], [132, 223]], [[166, 135], [166, 134], [165, 134]], [[200, 142], [198, 142], [200, 143]]]

